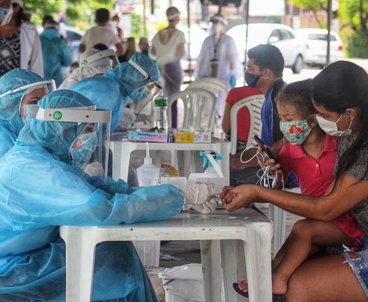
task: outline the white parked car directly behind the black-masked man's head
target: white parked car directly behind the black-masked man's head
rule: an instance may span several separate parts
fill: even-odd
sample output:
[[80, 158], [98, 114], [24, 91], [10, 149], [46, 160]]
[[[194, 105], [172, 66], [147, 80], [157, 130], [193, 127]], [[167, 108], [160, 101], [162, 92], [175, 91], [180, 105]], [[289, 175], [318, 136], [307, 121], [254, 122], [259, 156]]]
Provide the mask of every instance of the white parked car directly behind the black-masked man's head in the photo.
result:
[[[252, 23], [248, 26], [248, 50], [259, 44], [272, 44], [280, 49], [285, 60], [285, 67], [291, 67], [294, 73], [301, 72], [306, 45], [296, 37], [290, 26], [273, 23]], [[242, 62], [244, 61], [246, 30], [247, 25], [241, 24], [227, 31], [227, 35], [235, 41]]]

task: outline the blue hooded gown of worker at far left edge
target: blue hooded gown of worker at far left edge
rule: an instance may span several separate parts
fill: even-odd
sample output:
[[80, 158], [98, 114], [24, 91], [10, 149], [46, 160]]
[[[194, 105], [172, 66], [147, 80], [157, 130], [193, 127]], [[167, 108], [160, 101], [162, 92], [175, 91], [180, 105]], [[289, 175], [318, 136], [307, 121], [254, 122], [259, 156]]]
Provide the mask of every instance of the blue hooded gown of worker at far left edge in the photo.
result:
[[[36, 73], [15, 68], [0, 78], [0, 95], [40, 81], [43, 79]], [[23, 127], [19, 113], [24, 93], [19, 91], [0, 98], [0, 158], [14, 146]]]

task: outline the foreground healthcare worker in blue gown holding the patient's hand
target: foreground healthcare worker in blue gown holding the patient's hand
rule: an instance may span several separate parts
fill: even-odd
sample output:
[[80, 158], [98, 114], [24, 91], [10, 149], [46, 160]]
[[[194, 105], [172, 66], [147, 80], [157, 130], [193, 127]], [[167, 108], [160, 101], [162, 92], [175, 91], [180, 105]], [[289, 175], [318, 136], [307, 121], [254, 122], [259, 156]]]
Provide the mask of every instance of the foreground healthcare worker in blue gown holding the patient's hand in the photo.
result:
[[[60, 225], [149, 222], [172, 217], [183, 206], [214, 209], [208, 183], [181, 191], [171, 185], [129, 188], [122, 180], [101, 176], [106, 176], [101, 163], [102, 173], [91, 173], [88, 166], [98, 167], [92, 153], [106, 151], [103, 138], [108, 135], [100, 132], [109, 132], [93, 120], [100, 112], [70, 90], [49, 93], [38, 104], [36, 118], [0, 159], [1, 302], [65, 301]], [[79, 111], [81, 118], [75, 119]], [[92, 301], [158, 301], [131, 242], [96, 246]]]

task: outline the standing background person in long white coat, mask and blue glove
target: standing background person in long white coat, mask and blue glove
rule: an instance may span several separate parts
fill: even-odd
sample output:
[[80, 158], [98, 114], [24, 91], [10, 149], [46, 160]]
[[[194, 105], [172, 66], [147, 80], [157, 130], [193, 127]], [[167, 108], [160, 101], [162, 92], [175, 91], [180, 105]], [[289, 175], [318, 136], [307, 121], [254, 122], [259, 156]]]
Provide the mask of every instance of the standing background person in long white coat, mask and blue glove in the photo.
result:
[[[225, 34], [227, 21], [223, 15], [217, 14], [210, 19], [213, 35], [207, 37], [199, 53], [194, 71], [195, 79], [218, 78], [223, 80], [229, 90], [234, 88], [236, 80], [243, 74], [243, 65], [232, 37]], [[216, 113], [221, 116], [224, 112], [224, 99], [219, 96]]]

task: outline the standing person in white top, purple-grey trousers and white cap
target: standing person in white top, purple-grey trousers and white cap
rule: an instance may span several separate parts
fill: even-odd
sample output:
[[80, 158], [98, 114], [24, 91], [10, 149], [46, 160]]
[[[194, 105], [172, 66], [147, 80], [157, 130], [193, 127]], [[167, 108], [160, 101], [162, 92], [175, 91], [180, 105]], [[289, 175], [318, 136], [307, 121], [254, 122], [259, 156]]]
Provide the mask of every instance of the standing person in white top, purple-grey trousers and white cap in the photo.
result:
[[[165, 80], [163, 93], [169, 97], [180, 91], [183, 82], [183, 69], [180, 59], [185, 55], [184, 33], [176, 28], [180, 12], [176, 7], [169, 7], [166, 11], [169, 26], [156, 33], [152, 40], [150, 57], [157, 61], [160, 72]], [[176, 128], [176, 102], [172, 107], [173, 128]]]

